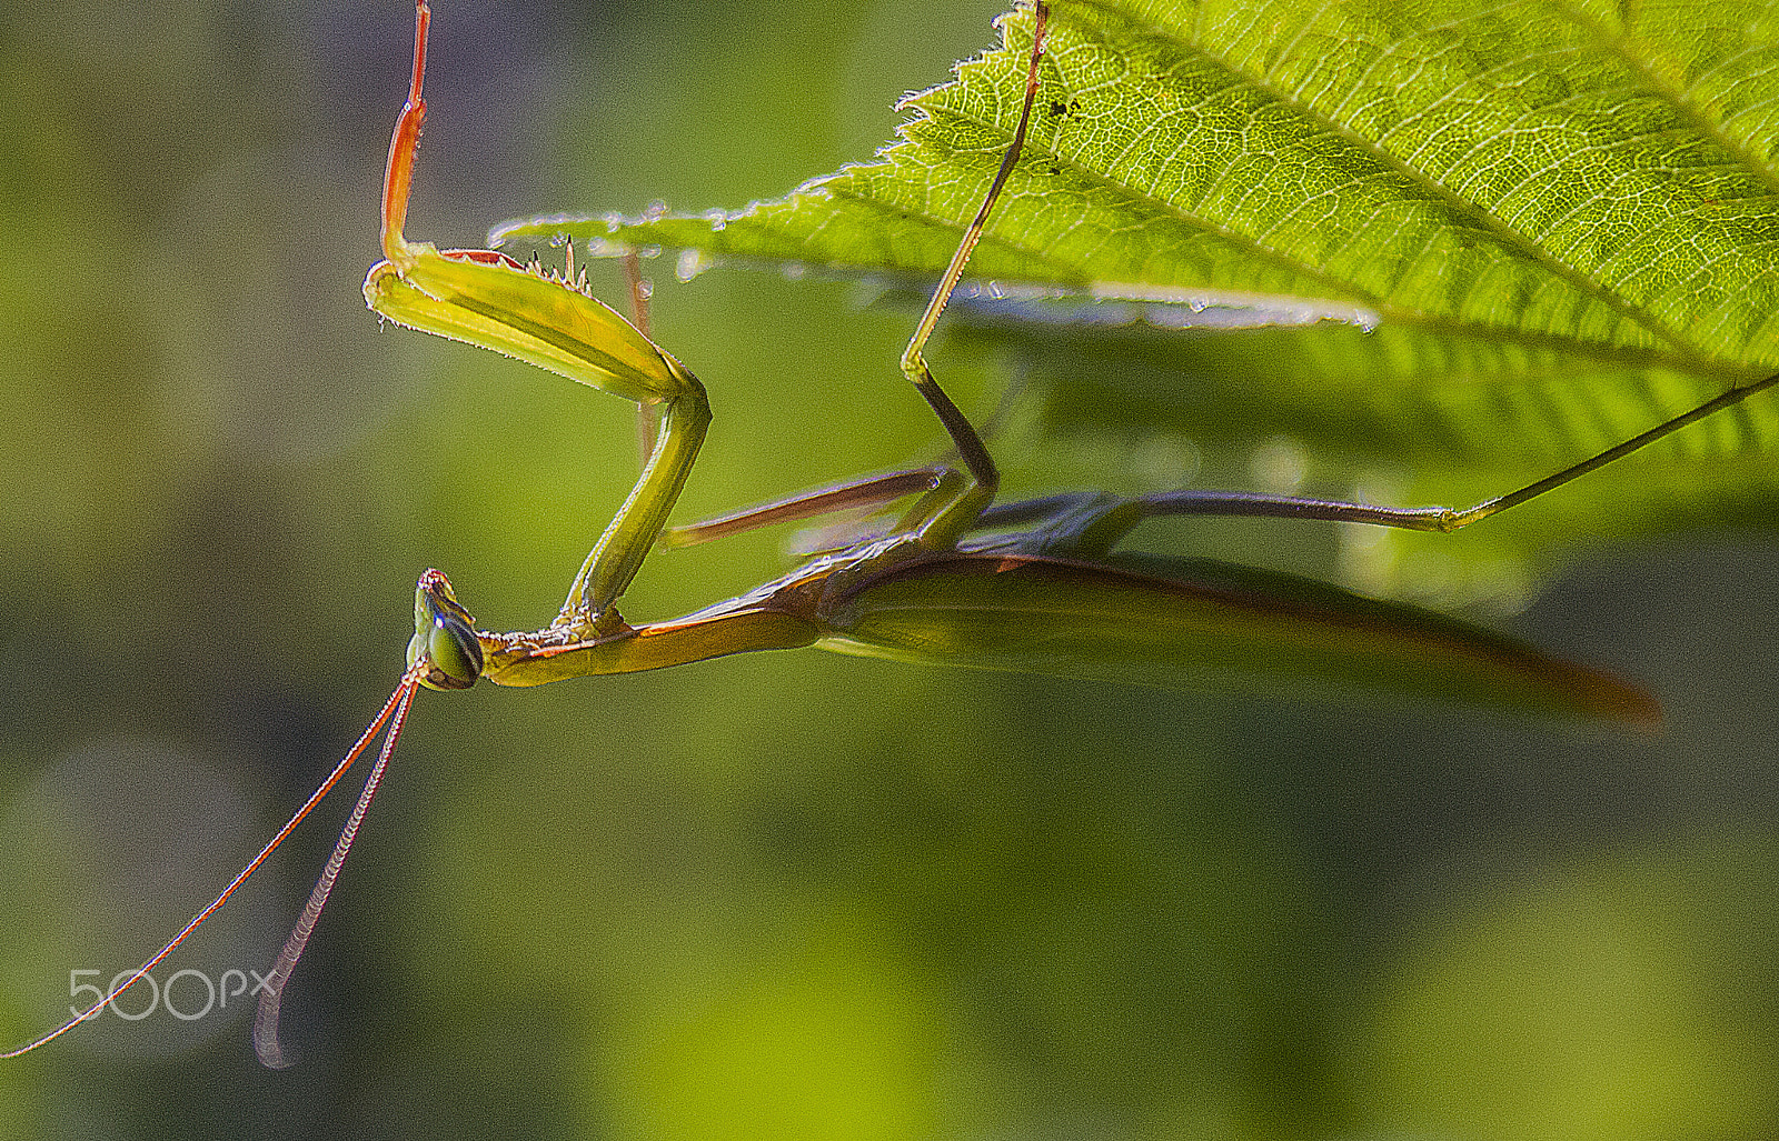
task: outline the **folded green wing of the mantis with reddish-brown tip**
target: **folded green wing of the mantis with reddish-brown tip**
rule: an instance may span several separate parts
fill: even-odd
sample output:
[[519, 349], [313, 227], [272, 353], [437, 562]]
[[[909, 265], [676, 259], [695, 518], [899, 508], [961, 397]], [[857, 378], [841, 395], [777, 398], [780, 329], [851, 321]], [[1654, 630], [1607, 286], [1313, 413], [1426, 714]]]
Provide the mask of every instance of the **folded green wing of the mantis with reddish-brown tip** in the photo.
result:
[[817, 645], [843, 654], [1167, 688], [1240, 686], [1505, 706], [1653, 725], [1610, 674], [1416, 606], [1215, 560], [959, 555], [868, 579]]

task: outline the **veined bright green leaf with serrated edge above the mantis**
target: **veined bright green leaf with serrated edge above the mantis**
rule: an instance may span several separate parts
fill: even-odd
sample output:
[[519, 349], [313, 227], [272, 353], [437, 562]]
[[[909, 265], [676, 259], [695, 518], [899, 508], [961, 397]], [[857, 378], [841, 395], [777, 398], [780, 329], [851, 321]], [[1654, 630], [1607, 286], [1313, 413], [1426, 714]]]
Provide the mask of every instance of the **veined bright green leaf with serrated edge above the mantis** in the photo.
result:
[[[1002, 28], [873, 162], [781, 201], [502, 235], [932, 277], [1018, 123], [1032, 16]], [[1055, 0], [971, 263], [1053, 295], [948, 322], [1035, 382], [1048, 439], [1288, 439], [1304, 491], [1468, 503], [1779, 371], [1775, 137], [1763, 4]], [[1482, 524], [1475, 558], [1770, 524], [1775, 400]]]

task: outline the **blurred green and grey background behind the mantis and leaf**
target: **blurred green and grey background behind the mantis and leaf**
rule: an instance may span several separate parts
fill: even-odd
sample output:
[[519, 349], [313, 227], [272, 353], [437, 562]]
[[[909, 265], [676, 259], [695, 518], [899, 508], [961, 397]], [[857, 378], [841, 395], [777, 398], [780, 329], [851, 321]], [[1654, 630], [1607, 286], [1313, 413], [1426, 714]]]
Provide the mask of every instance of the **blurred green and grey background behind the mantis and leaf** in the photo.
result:
[[[781, 194], [994, 11], [443, 4], [409, 235]], [[0, 1040], [301, 802], [420, 570], [539, 626], [630, 485], [628, 405], [363, 309], [409, 36], [400, 0], [0, 16]], [[681, 517], [930, 453], [911, 315], [655, 277], [717, 411]], [[1313, 567], [1311, 531], [1244, 542]], [[658, 555], [626, 613], [781, 539]], [[1770, 1136], [1775, 567], [1582, 551], [1505, 622], [1651, 684], [1658, 738], [817, 652], [427, 693], [286, 999], [301, 1065], [238, 997], [109, 1013], [0, 1063], [0, 1137]], [[157, 972], [203, 972], [180, 1009], [265, 970], [347, 800]]]

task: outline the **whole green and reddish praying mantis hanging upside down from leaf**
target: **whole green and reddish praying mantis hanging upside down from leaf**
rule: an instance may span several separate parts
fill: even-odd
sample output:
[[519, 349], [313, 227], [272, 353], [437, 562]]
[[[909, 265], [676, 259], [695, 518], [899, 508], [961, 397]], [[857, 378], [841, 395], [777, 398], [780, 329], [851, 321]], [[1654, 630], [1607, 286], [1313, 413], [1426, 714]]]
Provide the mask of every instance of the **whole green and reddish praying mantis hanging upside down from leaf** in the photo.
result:
[[379, 787], [415, 691], [463, 690], [487, 677], [530, 686], [589, 674], [624, 674], [758, 649], [822, 645], [875, 654], [1041, 672], [1094, 672], [1130, 681], [1211, 672], [1318, 681], [1363, 663], [1386, 688], [1471, 695], [1571, 714], [1653, 722], [1653, 698], [1605, 674], [1569, 665], [1487, 631], [1332, 586], [1222, 563], [1114, 556], [1112, 547], [1153, 515], [1224, 514], [1364, 523], [1450, 531], [1560, 487], [1681, 427], [1772, 386], [1770, 377], [1710, 400], [1649, 432], [1507, 496], [1471, 508], [1381, 508], [1357, 503], [1178, 491], [1140, 498], [1064, 494], [996, 505], [1000, 476], [970, 419], [946, 398], [923, 359], [946, 299], [996, 195], [1019, 158], [1037, 91], [1046, 0], [1032, 5], [1032, 48], [1019, 128], [977, 219], [964, 229], [934, 290], [902, 370], [925, 396], [961, 457], [792, 496], [680, 528], [678, 539], [717, 539], [840, 508], [888, 508], [914, 498], [893, 523], [797, 567], [785, 578], [697, 613], [632, 626], [617, 601], [651, 547], [696, 462], [710, 405], [703, 384], [635, 323], [566, 274], [521, 265], [496, 251], [438, 251], [409, 242], [407, 211], [420, 126], [431, 11], [416, 0], [409, 98], [395, 126], [382, 197], [384, 261], [365, 295], [379, 315], [415, 329], [500, 350], [616, 393], [648, 412], [640, 478], [587, 555], [557, 618], [539, 631], [477, 631], [448, 579], [427, 570], [415, 595], [407, 670], [382, 711], [315, 794], [235, 880], [112, 993], [12, 1057], [59, 1038], [162, 963], [269, 858], [345, 775], [379, 732], [388, 734], [340, 841], [262, 995], [254, 1049], [288, 1065], [278, 1041], [279, 995], [326, 906]]

